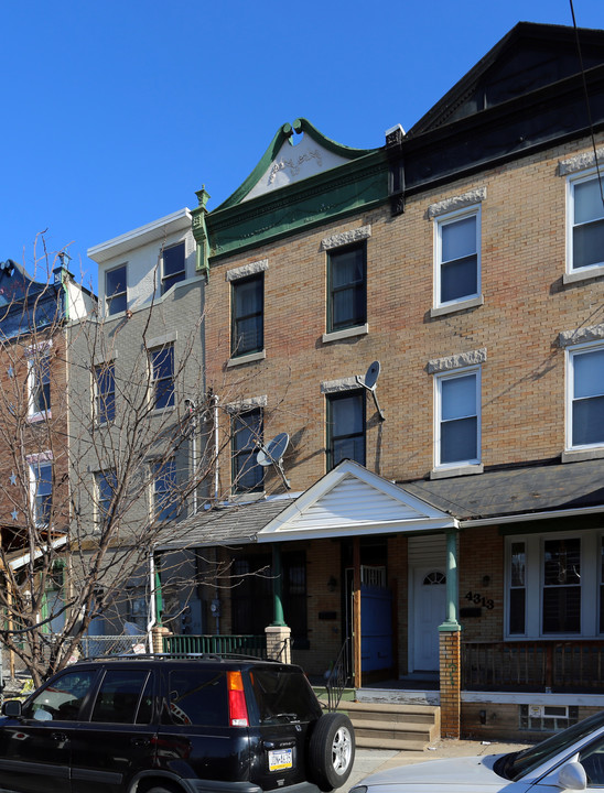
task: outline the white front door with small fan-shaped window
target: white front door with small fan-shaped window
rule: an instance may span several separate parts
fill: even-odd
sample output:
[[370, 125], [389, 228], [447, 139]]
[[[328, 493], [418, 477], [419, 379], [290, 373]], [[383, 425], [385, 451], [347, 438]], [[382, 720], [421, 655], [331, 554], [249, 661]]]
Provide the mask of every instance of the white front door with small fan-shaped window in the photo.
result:
[[439, 670], [439, 626], [446, 609], [446, 576], [435, 567], [414, 571], [413, 669]]

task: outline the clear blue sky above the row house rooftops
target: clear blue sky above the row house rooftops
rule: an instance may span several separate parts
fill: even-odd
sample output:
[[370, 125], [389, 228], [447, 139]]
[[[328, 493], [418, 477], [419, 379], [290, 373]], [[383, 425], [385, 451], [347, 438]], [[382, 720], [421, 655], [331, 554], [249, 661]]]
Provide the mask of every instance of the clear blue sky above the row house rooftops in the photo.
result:
[[[604, 29], [604, 0], [574, 11]], [[216, 207], [280, 124], [379, 146], [522, 20], [570, 25], [570, 2], [1, 0], [0, 261], [33, 272], [47, 229], [95, 285], [87, 248], [203, 184]]]

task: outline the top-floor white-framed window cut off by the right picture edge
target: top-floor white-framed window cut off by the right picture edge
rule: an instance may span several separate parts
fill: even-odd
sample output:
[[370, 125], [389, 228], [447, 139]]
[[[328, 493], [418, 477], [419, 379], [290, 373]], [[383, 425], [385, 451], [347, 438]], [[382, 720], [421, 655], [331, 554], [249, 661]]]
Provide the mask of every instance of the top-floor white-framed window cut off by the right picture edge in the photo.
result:
[[604, 265], [604, 199], [596, 173], [569, 181], [569, 270]]

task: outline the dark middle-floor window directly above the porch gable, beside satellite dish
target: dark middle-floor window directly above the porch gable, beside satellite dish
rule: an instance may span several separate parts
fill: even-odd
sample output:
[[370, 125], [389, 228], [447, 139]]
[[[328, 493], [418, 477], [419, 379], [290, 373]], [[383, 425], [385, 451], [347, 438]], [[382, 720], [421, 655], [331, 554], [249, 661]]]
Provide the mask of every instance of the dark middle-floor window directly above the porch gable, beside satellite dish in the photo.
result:
[[365, 465], [365, 392], [327, 394], [327, 470], [343, 459]]

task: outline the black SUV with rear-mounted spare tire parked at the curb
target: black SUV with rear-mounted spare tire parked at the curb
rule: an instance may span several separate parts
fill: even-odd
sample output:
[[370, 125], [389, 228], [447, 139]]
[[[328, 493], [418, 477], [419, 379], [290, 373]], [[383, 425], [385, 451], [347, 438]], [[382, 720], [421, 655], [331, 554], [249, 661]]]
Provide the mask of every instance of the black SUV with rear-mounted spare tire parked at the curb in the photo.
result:
[[2, 714], [11, 793], [317, 793], [346, 782], [355, 753], [348, 717], [270, 661], [83, 661]]

